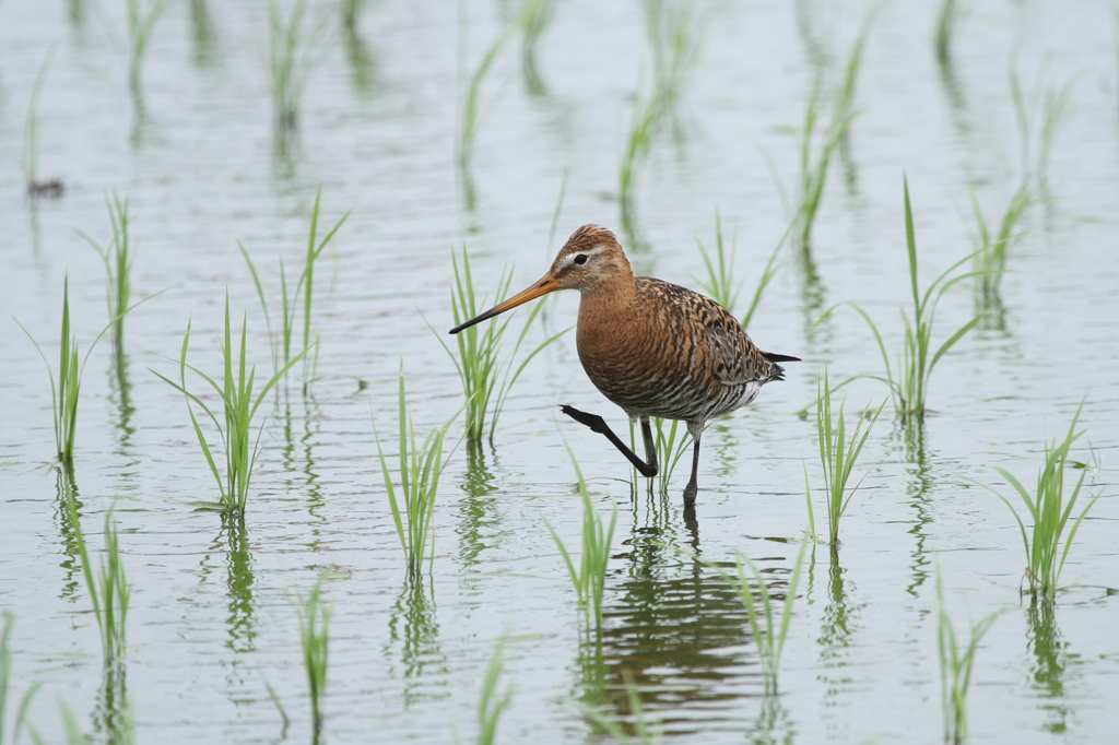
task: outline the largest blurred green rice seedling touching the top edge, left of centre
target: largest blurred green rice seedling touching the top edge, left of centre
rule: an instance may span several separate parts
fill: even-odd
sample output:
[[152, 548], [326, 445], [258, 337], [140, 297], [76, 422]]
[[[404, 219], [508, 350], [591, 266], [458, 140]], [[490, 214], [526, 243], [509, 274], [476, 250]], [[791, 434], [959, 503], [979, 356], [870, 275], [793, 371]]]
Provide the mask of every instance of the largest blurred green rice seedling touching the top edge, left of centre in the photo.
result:
[[279, 0], [269, 0], [269, 83], [275, 129], [286, 133], [299, 123], [303, 86], [314, 68], [311, 48], [325, 30], [325, 23], [309, 26], [307, 0], [295, 0], [284, 18]]

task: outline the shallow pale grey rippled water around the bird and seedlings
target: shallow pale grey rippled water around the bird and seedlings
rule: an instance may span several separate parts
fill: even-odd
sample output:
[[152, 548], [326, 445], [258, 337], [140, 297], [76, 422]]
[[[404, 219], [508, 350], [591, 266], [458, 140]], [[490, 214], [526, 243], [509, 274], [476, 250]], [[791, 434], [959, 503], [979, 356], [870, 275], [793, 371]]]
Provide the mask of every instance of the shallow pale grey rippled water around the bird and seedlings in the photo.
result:
[[[808, 286], [796, 252], [784, 249], [751, 324], [760, 346], [806, 361], [708, 430], [695, 515], [679, 501], [686, 463], [667, 497], [643, 482], [634, 496], [617, 453], [557, 421], [555, 405], [571, 404], [623, 424], [585, 379], [567, 334], [517, 383], [493, 446], [454, 451], [435, 512], [436, 557], [416, 585], [404, 579], [370, 409], [392, 431], [402, 361], [421, 432], [461, 404], [453, 365], [429, 330], [452, 326], [453, 248], [470, 249], [480, 291], [514, 264], [519, 289], [579, 225], [620, 229], [619, 161], [650, 64], [637, 3], [561, 3], [540, 50], [549, 95], [524, 92], [516, 45], [483, 87], [477, 206], [466, 210], [457, 96], [513, 12], [510, 3], [468, 4], [464, 32], [443, 6], [391, 1], [363, 12], [364, 46], [331, 30], [286, 151], [271, 129], [260, 3], [196, 3], [208, 10], [208, 36], [187, 3], [172, 6], [144, 67], [141, 113], [128, 88], [123, 3], [84, 3], [79, 23], [63, 3], [0, 4], [0, 314], [18, 318], [53, 359], [68, 275], [88, 348], [106, 321], [103, 267], [75, 229], [107, 239], [111, 191], [132, 207], [138, 296], [167, 290], [128, 319], [126, 400], [112, 346], [92, 352], [77, 433], [83, 524], [100, 545], [104, 512], [116, 503], [134, 587], [126, 683], [138, 741], [278, 742], [266, 685], [292, 718], [286, 738], [308, 739], [293, 597], [320, 576], [335, 603], [328, 742], [444, 743], [455, 733], [470, 742], [478, 689], [501, 638], [502, 681], [514, 695], [499, 742], [595, 741], [577, 702], [593, 683], [594, 649], [581, 642], [574, 594], [545, 527], [577, 544], [581, 508], [562, 433], [595, 502], [619, 510], [602, 643], [609, 700], [628, 710], [621, 680], [632, 672], [669, 742], [939, 742], [938, 566], [958, 630], [1009, 609], [978, 652], [972, 741], [1108, 742], [1119, 710], [1116, 605], [1104, 590], [1119, 586], [1119, 86], [1109, 6], [978, 6], [955, 40], [956, 87], [933, 55], [933, 8], [878, 7], [849, 158], [835, 163], [814, 235], [819, 282]], [[752, 291], [787, 217], [760, 152], [791, 190], [810, 41], [822, 39], [841, 59], [866, 12], [794, 4], [808, 11], [807, 26], [788, 3], [702, 6], [702, 54], [679, 105], [684, 138], [658, 140], [639, 181], [646, 247], [632, 257], [641, 272], [696, 286], [695, 237], [713, 243], [718, 210]], [[29, 200], [22, 128], [51, 45], [40, 172], [66, 191]], [[857, 302], [888, 343], [900, 340], [896, 309], [910, 292], [903, 173], [925, 282], [971, 251], [969, 188], [989, 216], [999, 214], [1021, 170], [1013, 50], [1027, 89], [1040, 69], [1051, 84], [1075, 76], [1049, 166], [1051, 199], [1032, 210], [1014, 251], [1003, 323], [969, 334], [938, 367], [923, 436], [909, 436], [888, 413], [875, 427], [843, 547], [836, 559], [822, 546], [810, 554], [781, 695], [767, 698], [737, 597], [677, 549], [713, 562], [742, 550], [775, 588], [787, 581], [797, 546], [772, 539], [805, 528], [806, 461], [817, 494], [821, 485], [815, 423], [796, 412], [815, 397], [824, 365], [834, 380], [882, 369], [853, 311], [816, 320], [831, 304]], [[226, 291], [235, 314], [247, 313], [252, 352], [269, 368], [236, 241], [275, 289], [276, 256], [300, 263], [320, 188], [326, 223], [351, 211], [320, 264], [318, 378], [307, 397], [293, 385], [272, 413], [246, 528], [227, 530], [194, 508], [215, 498], [215, 484], [181, 396], [149, 368], [175, 374], [168, 358], [178, 356], [189, 319], [191, 359], [216, 369]], [[632, 246], [630, 236], [622, 241]], [[549, 301], [530, 341], [574, 321], [571, 294]], [[967, 285], [949, 293], [940, 338], [972, 311]], [[49, 380], [19, 328], [0, 329], [0, 606], [16, 616], [16, 690], [44, 683], [30, 716], [57, 739], [56, 698], [86, 730], [95, 726], [98, 636], [47, 468]], [[862, 380], [848, 388], [849, 407], [885, 395]], [[1000, 485], [999, 465], [1032, 479], [1043, 438], [1063, 432], [1082, 399], [1099, 462], [1089, 482], [1102, 497], [1065, 568], [1064, 579], [1081, 586], [1062, 593], [1055, 610], [1034, 612], [1019, 604], [1024, 557], [1013, 517], [975, 481]], [[1078, 456], [1089, 458], [1083, 447]]]

